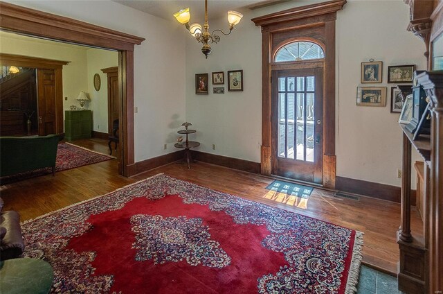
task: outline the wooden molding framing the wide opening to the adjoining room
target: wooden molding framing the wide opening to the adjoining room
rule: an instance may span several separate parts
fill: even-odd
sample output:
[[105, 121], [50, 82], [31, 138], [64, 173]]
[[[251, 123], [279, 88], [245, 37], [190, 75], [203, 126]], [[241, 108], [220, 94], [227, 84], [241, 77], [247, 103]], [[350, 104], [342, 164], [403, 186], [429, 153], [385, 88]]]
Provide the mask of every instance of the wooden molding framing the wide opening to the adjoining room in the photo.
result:
[[118, 172], [127, 177], [134, 175], [134, 46], [145, 39], [3, 1], [0, 19], [0, 27], [6, 31], [118, 50], [119, 119], [123, 122], [119, 129], [122, 158]]

